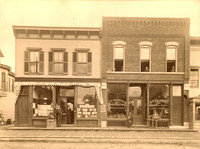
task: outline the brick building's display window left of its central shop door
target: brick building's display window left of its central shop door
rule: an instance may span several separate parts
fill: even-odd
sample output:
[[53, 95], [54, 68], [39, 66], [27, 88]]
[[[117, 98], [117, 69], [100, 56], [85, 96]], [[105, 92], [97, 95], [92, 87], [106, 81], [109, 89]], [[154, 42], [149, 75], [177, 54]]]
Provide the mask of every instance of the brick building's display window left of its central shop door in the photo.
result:
[[126, 117], [126, 84], [108, 84], [108, 117]]

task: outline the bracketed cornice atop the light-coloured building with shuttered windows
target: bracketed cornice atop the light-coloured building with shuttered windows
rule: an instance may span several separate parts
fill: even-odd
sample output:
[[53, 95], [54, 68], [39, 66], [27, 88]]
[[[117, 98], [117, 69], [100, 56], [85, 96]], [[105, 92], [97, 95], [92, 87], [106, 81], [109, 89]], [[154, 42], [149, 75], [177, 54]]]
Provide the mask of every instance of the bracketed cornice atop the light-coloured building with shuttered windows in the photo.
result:
[[15, 38], [54, 40], [99, 40], [100, 28], [13, 26]]

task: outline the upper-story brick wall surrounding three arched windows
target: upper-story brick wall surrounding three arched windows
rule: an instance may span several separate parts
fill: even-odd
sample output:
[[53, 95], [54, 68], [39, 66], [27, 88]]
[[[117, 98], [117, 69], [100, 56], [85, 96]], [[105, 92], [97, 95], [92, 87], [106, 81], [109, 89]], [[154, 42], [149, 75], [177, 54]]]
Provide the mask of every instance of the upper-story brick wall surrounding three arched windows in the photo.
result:
[[[125, 71], [139, 72], [140, 47], [139, 42], [150, 41], [151, 71], [166, 72], [166, 42], [179, 43], [177, 50], [177, 72], [184, 72], [188, 80], [188, 49], [186, 49], [186, 37], [189, 19], [165, 19], [165, 18], [103, 18], [102, 49], [103, 72], [113, 69], [113, 45], [114, 41], [124, 41], [125, 46]], [[187, 69], [186, 69], [187, 68]]]

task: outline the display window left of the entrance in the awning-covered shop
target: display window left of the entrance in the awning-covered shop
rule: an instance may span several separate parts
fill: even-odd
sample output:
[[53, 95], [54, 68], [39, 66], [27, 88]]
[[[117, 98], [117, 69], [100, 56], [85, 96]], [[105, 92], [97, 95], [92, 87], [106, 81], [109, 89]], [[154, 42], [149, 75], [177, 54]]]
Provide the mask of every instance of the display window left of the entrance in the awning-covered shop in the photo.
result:
[[[51, 87], [33, 87], [33, 116], [53, 116]], [[53, 117], [52, 117], [53, 118]]]

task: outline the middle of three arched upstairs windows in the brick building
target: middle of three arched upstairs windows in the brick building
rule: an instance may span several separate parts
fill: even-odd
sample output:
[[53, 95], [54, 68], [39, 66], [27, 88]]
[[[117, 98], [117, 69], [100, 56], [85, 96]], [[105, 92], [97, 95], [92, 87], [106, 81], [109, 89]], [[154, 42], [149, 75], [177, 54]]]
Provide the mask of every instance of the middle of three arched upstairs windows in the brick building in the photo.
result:
[[140, 45], [140, 71], [151, 71], [151, 47], [152, 42], [142, 41]]

